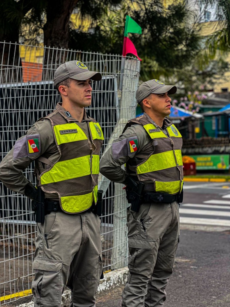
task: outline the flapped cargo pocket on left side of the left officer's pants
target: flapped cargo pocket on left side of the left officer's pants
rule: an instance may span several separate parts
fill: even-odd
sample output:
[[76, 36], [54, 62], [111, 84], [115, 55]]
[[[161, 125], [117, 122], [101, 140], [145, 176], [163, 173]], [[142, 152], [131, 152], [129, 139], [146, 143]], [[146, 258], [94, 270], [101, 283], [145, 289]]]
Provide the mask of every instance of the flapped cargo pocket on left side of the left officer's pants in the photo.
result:
[[33, 270], [35, 270], [35, 277], [32, 282], [32, 292], [36, 302], [60, 304], [62, 261], [35, 258]]

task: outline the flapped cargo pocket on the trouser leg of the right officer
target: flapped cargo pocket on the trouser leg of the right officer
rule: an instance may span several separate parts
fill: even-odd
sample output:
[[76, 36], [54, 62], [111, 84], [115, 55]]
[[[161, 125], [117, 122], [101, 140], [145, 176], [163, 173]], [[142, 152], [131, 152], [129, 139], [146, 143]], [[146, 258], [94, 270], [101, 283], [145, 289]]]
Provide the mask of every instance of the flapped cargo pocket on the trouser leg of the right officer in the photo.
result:
[[130, 272], [143, 275], [152, 274], [155, 264], [155, 243], [155, 240], [128, 238], [128, 248], [131, 254], [131, 259], [128, 262]]

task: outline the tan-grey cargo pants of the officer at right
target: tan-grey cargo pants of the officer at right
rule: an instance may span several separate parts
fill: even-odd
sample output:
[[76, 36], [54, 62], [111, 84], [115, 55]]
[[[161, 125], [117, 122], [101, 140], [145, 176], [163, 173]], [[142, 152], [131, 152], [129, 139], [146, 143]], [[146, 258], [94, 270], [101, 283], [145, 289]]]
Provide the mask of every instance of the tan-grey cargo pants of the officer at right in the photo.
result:
[[179, 206], [142, 204], [139, 212], [129, 207], [127, 221], [131, 259], [122, 306], [162, 306], [179, 242]]

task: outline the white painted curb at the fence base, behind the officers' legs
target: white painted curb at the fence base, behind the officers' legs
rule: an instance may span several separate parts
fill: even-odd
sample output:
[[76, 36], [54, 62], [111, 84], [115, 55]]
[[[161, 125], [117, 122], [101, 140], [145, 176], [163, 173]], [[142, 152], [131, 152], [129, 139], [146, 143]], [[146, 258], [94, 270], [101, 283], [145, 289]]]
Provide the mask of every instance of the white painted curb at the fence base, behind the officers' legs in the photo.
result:
[[[114, 270], [109, 273], [104, 274], [104, 279], [100, 280], [100, 285], [98, 287], [97, 296], [105, 294], [107, 291], [113, 290], [117, 286], [124, 285], [127, 281], [128, 267], [125, 266], [122, 269]], [[65, 290], [62, 295], [62, 307], [68, 307], [70, 303], [70, 290]], [[33, 307], [34, 302], [21, 304], [18, 307]]]

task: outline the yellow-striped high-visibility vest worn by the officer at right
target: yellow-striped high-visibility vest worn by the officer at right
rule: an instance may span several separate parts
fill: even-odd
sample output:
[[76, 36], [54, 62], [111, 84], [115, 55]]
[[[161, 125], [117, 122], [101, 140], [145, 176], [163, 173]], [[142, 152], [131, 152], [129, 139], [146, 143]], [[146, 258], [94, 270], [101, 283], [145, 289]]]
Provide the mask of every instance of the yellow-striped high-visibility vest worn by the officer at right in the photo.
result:
[[138, 180], [152, 181], [155, 192], [169, 194], [181, 192], [183, 186], [182, 136], [178, 129], [173, 124], [167, 126], [167, 136], [145, 116], [132, 119], [127, 126], [133, 123], [141, 124], [153, 141], [152, 154], [143, 161], [136, 162], [135, 170]]

